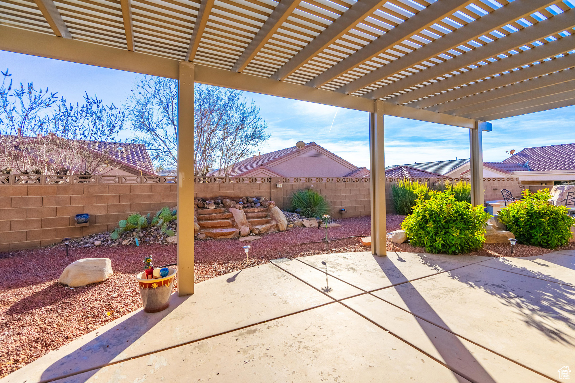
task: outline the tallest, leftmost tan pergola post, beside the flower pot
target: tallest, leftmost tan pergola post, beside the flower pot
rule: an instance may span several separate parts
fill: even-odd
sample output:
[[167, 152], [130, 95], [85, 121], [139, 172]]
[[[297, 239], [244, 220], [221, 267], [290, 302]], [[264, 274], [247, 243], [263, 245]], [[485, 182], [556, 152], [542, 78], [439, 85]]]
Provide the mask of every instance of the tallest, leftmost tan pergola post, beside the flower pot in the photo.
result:
[[194, 293], [194, 64], [178, 77], [178, 296]]

